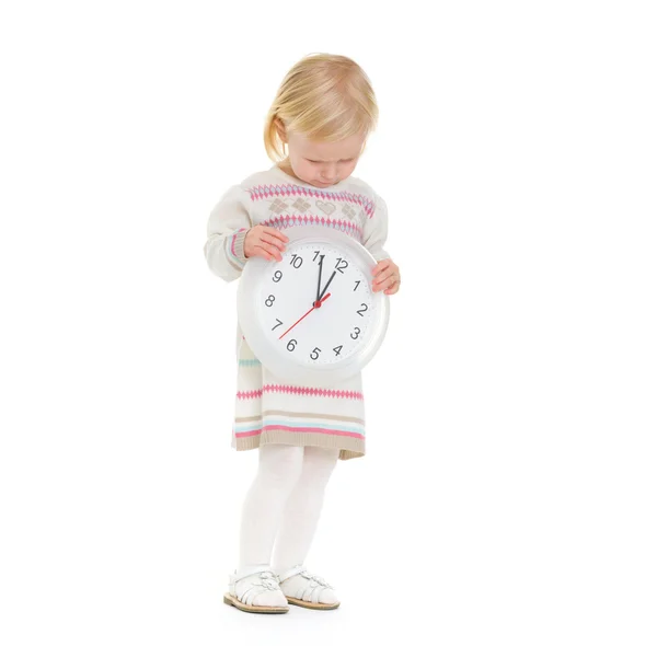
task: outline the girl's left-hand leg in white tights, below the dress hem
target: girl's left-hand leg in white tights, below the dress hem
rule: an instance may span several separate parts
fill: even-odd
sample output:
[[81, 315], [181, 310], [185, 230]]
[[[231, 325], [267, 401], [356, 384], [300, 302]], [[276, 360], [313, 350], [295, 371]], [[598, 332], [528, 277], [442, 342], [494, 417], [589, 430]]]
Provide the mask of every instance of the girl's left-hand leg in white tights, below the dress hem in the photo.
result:
[[303, 465], [303, 447], [264, 445], [242, 510], [240, 570], [269, 564], [285, 505]]

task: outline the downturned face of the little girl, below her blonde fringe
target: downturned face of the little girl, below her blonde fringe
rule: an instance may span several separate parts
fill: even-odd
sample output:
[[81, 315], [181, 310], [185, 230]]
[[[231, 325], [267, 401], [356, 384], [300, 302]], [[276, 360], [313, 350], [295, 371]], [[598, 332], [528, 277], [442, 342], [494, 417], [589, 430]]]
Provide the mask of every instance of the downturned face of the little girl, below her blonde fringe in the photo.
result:
[[354, 135], [342, 141], [312, 141], [298, 132], [289, 132], [287, 143], [295, 175], [318, 188], [327, 188], [354, 172], [365, 137]]

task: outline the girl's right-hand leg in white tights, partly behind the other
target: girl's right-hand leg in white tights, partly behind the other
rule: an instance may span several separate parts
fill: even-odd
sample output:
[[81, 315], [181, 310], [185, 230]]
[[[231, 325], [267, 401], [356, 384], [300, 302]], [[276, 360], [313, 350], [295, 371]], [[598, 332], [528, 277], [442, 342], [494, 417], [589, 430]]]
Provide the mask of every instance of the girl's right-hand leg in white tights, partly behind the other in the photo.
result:
[[276, 539], [273, 569], [280, 574], [306, 561], [324, 503], [324, 488], [337, 463], [339, 450], [304, 447], [301, 476], [297, 481]]

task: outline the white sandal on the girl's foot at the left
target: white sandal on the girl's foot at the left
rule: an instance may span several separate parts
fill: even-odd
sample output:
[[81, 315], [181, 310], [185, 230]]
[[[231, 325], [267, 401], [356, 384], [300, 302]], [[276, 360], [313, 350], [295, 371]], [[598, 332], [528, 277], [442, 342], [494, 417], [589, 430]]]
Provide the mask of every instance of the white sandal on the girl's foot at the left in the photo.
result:
[[[263, 595], [267, 598], [267, 603], [256, 605], [256, 599]], [[249, 574], [239, 574], [235, 570], [229, 575], [228, 592], [223, 595], [223, 603], [234, 605], [244, 612], [265, 614], [283, 614], [290, 609], [278, 586], [278, 578], [269, 566], [252, 568]]]

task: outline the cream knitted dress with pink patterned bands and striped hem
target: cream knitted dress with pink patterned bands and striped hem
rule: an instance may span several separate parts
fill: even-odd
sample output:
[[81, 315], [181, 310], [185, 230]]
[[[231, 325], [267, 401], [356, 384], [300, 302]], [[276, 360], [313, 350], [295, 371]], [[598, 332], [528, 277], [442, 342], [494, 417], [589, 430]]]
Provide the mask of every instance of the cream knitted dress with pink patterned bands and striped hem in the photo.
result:
[[[277, 165], [231, 186], [211, 210], [204, 253], [210, 270], [227, 281], [242, 274], [244, 238], [251, 227], [289, 229], [321, 224], [344, 231], [380, 261], [388, 209], [368, 184], [349, 176], [331, 188], [301, 182]], [[299, 387], [278, 379], [253, 354], [238, 325], [238, 392], [231, 446], [266, 443], [339, 449], [339, 459], [365, 454], [361, 373], [332, 388]]]

